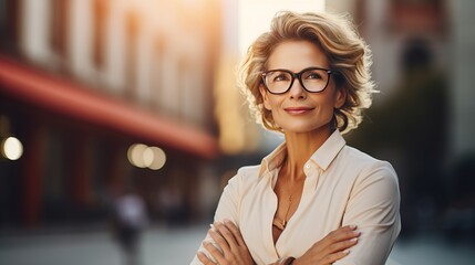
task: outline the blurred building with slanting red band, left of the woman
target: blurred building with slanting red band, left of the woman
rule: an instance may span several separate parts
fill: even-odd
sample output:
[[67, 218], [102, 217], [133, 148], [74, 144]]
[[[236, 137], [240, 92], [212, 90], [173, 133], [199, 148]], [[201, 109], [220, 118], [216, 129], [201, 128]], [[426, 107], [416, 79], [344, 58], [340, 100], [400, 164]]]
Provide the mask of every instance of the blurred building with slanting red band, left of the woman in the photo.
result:
[[220, 20], [218, 0], [0, 0], [0, 138], [23, 149], [0, 160], [0, 225], [99, 220], [125, 187], [199, 218]]

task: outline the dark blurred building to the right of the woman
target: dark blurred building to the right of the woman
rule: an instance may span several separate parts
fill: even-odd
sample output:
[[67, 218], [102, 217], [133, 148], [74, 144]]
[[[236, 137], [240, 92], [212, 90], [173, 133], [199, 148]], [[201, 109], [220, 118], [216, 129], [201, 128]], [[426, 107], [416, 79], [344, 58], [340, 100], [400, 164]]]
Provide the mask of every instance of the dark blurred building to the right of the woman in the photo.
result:
[[350, 12], [373, 52], [381, 93], [349, 139], [395, 167], [403, 234], [473, 234], [474, 2], [335, 0], [327, 6]]

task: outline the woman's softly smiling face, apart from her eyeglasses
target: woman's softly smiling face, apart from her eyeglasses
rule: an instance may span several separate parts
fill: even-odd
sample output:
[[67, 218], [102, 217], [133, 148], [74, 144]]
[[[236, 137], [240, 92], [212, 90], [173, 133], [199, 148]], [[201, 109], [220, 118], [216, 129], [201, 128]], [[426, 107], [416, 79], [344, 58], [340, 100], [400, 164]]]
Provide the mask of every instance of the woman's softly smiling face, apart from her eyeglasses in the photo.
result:
[[[299, 73], [308, 67], [329, 68], [327, 55], [308, 41], [278, 44], [267, 63], [267, 71], [280, 68]], [[345, 99], [343, 89], [337, 89], [331, 76], [327, 88], [319, 93], [307, 92], [298, 78], [281, 95], [270, 94], [264, 84], [259, 89], [266, 109], [272, 113], [273, 120], [285, 132], [330, 131], [333, 108], [341, 107]]]

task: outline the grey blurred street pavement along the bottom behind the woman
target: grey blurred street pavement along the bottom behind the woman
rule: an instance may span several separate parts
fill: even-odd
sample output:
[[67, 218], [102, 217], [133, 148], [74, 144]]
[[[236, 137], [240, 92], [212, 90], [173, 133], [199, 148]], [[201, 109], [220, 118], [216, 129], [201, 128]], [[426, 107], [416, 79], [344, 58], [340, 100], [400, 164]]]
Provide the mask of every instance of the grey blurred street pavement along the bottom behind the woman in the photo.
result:
[[[206, 231], [207, 226], [147, 230], [142, 244], [142, 265], [189, 264]], [[121, 258], [106, 231], [0, 237], [0, 264], [118, 265], [123, 264]], [[386, 265], [469, 265], [474, 258], [474, 245], [420, 236], [397, 241]]]

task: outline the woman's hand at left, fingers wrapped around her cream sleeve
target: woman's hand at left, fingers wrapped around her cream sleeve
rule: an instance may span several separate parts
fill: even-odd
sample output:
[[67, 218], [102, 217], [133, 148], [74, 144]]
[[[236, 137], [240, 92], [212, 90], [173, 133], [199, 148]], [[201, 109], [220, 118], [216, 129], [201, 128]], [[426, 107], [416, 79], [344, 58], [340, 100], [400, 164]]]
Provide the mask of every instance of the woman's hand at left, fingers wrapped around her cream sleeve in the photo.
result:
[[[242, 235], [231, 221], [225, 220], [224, 222], [215, 222], [208, 233], [216, 244], [218, 244], [221, 251], [208, 242], [204, 242], [203, 246], [217, 261], [217, 264], [255, 264], [252, 257], [250, 256], [249, 250], [244, 242]], [[205, 265], [215, 264], [202, 252], [198, 252], [197, 257]]]

